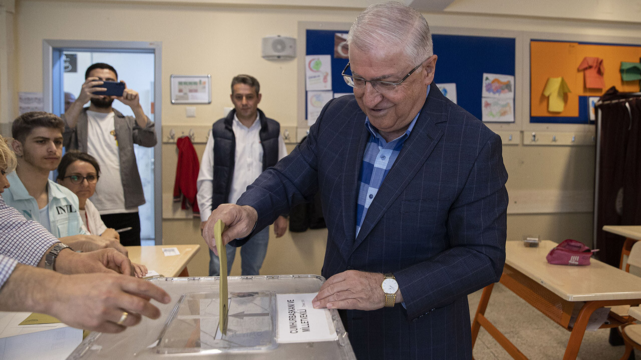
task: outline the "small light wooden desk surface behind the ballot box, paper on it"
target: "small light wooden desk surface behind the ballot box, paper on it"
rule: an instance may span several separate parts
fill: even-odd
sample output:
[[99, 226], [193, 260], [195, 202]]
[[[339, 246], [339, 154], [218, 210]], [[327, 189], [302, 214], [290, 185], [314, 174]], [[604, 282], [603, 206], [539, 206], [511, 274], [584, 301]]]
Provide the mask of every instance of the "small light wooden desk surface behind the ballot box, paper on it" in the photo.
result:
[[[180, 255], [165, 256], [163, 248], [175, 247]], [[155, 246], [128, 246], [129, 259], [132, 263], [147, 266], [149, 270], [156, 270], [165, 277], [189, 276], [187, 263], [194, 258], [200, 245], [155, 245]]]

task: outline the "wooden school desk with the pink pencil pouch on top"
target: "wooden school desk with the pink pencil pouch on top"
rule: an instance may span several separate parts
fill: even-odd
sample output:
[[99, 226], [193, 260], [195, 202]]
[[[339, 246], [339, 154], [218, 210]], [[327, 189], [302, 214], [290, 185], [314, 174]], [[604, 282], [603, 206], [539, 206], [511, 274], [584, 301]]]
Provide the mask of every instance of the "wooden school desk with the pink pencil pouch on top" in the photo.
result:
[[[501, 284], [571, 331], [563, 359], [573, 360], [578, 355], [590, 315], [596, 309], [641, 304], [641, 278], [595, 259], [590, 259], [588, 266], [550, 265], [545, 256], [556, 245], [553, 241], [544, 240], [539, 247], [524, 247], [521, 241], [508, 241]], [[485, 318], [493, 287], [494, 284], [483, 289], [472, 322], [472, 347], [479, 328], [483, 326], [514, 359], [527, 359]], [[580, 311], [574, 327], [570, 327], [570, 316], [575, 306], [580, 307]], [[610, 323], [602, 325], [602, 328], [622, 324], [616, 318], [608, 320]]]

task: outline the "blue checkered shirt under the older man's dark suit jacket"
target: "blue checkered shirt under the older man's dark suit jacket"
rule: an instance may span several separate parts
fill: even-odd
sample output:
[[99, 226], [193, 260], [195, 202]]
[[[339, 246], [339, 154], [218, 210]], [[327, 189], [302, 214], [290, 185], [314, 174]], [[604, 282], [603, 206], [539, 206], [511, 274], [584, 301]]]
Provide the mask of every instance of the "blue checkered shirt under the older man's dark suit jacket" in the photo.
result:
[[369, 205], [376, 197], [378, 189], [381, 188], [381, 184], [394, 165], [399, 152], [403, 149], [403, 143], [410, 136], [419, 115], [420, 112], [410, 122], [410, 126], [403, 135], [390, 142], [386, 142], [383, 136], [378, 133], [378, 129], [370, 124], [369, 118], [365, 117], [365, 127], [369, 130], [370, 136], [367, 147], [365, 147], [360, 171], [360, 190], [358, 190], [358, 203], [356, 204], [356, 236], [363, 225]]

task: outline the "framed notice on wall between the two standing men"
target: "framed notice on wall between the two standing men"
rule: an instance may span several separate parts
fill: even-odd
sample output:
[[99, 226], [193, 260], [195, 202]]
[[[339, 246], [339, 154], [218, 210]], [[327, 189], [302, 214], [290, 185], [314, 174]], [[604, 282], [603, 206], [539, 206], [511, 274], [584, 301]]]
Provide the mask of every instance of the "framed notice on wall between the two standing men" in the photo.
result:
[[172, 75], [172, 104], [211, 104], [212, 75]]

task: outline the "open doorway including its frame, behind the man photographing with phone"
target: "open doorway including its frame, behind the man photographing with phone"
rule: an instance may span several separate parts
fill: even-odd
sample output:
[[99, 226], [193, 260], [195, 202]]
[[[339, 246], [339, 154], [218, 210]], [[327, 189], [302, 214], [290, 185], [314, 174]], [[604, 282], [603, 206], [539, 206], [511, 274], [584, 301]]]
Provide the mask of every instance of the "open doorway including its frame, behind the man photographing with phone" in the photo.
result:
[[[72, 40], [43, 42], [43, 97], [46, 111], [56, 115], [64, 113], [65, 92], [78, 96], [85, 82], [87, 67], [102, 62], [112, 65], [118, 71], [119, 80], [124, 80], [128, 88], [138, 92], [145, 114], [156, 123], [158, 145], [151, 148], [134, 145], [146, 199], [146, 204], [138, 207], [142, 245], [162, 245], [160, 45]], [[124, 115], [133, 115], [131, 108], [119, 101], [113, 102], [113, 108]]]

